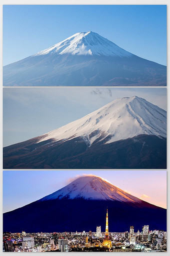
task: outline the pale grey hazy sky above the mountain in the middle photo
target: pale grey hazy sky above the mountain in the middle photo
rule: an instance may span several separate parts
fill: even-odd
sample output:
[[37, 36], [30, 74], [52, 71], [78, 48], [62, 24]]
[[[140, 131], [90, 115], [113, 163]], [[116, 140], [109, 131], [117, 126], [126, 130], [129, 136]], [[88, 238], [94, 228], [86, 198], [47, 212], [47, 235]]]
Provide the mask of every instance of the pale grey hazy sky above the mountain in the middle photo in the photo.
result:
[[3, 146], [42, 135], [118, 97], [134, 95], [166, 110], [166, 88], [3, 88]]

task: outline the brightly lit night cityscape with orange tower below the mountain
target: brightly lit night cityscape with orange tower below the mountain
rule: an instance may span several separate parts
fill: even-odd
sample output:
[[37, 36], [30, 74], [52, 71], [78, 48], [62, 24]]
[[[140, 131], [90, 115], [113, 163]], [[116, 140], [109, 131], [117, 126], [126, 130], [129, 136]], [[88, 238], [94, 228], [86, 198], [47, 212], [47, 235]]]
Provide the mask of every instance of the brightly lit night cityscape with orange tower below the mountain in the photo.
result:
[[166, 251], [167, 232], [164, 230], [149, 230], [149, 225], [143, 225], [137, 232], [134, 226], [130, 226], [129, 231], [108, 232], [108, 211], [105, 222], [105, 232], [101, 232], [101, 226], [96, 226], [95, 232], [3, 232], [3, 251]]

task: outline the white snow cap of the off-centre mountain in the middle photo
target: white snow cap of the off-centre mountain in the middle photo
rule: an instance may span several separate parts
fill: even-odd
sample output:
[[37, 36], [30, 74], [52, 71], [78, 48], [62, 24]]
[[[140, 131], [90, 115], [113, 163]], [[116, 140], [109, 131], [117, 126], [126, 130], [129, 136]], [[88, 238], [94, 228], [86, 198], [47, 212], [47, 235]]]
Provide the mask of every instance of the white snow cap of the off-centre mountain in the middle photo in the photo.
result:
[[139, 134], [166, 137], [166, 111], [133, 96], [117, 98], [78, 120], [45, 133], [38, 142], [81, 136], [90, 146], [96, 139], [110, 143]]

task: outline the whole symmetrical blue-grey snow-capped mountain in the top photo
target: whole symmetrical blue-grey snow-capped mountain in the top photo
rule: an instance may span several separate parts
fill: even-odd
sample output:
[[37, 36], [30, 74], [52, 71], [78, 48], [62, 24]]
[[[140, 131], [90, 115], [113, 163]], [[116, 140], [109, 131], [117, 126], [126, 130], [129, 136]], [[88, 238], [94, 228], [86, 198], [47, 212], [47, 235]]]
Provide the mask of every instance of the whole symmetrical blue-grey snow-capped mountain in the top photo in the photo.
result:
[[166, 66], [140, 58], [94, 32], [79, 32], [3, 67], [5, 86], [165, 86]]

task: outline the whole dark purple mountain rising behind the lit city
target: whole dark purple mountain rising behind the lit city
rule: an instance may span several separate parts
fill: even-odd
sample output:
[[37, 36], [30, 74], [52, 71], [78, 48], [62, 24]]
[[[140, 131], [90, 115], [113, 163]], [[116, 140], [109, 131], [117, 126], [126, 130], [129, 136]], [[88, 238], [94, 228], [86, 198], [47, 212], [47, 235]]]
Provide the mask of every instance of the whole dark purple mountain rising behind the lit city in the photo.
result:
[[141, 230], [166, 230], [166, 209], [145, 202], [95, 175], [85, 175], [37, 201], [3, 213], [3, 231], [64, 232], [105, 231], [108, 207], [109, 231], [123, 232], [130, 225]]

